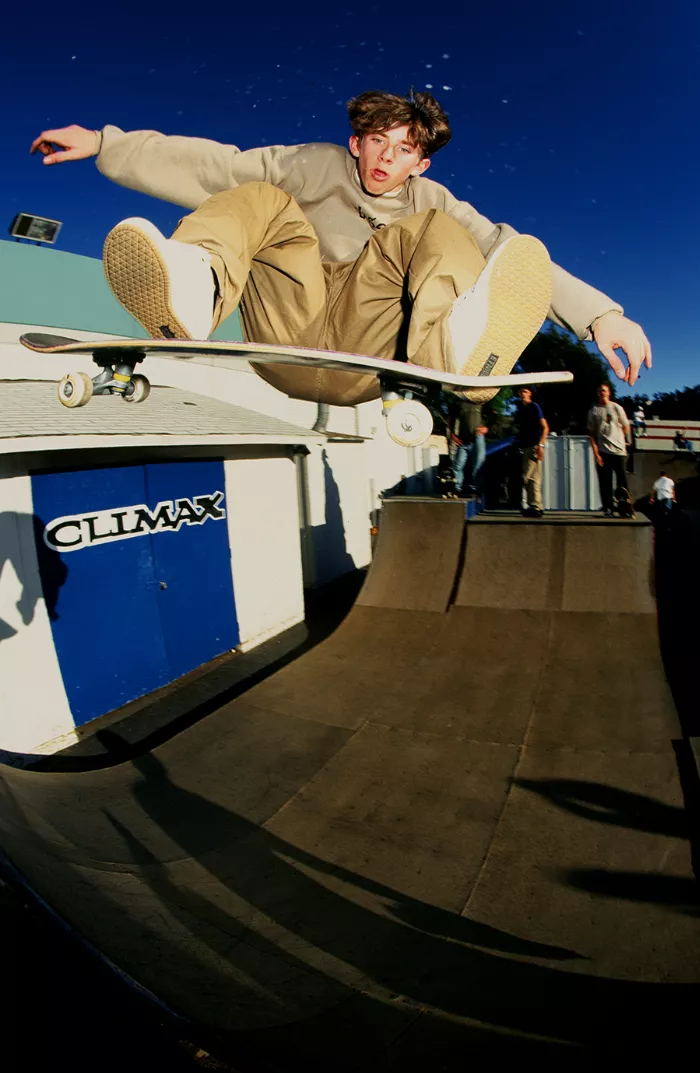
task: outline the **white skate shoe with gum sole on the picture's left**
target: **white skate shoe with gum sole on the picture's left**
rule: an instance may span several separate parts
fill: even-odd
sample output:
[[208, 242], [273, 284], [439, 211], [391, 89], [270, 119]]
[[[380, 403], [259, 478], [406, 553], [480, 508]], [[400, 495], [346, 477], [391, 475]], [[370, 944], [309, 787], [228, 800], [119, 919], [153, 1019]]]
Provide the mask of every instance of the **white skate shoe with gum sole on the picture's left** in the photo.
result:
[[154, 339], [207, 339], [214, 315], [212, 259], [201, 246], [165, 238], [149, 220], [113, 227], [102, 253], [118, 302]]

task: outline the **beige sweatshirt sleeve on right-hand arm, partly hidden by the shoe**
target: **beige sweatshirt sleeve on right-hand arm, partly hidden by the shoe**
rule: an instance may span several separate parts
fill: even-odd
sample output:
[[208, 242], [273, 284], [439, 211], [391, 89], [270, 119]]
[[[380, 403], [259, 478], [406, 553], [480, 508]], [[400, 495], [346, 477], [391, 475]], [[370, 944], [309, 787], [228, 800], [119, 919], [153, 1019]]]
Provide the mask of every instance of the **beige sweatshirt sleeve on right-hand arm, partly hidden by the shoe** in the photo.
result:
[[[492, 223], [468, 202], [457, 201], [447, 190], [446, 194], [448, 216], [473, 235], [485, 258], [488, 258], [507, 238], [517, 234], [510, 224]], [[623, 312], [623, 307], [602, 291], [597, 291], [565, 268], [552, 263], [552, 305], [548, 320], [573, 332], [579, 339], [589, 340], [593, 339], [590, 334], [593, 322], [613, 309]]]

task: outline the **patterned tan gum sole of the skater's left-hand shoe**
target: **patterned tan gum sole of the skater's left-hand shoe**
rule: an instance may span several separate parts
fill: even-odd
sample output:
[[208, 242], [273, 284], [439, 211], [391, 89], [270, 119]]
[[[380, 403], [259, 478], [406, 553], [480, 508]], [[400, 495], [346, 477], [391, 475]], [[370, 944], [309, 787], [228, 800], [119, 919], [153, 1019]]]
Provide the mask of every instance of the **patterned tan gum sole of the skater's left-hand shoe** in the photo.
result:
[[171, 307], [170, 270], [158, 246], [127, 223], [110, 232], [102, 251], [110, 289], [152, 339], [191, 339]]

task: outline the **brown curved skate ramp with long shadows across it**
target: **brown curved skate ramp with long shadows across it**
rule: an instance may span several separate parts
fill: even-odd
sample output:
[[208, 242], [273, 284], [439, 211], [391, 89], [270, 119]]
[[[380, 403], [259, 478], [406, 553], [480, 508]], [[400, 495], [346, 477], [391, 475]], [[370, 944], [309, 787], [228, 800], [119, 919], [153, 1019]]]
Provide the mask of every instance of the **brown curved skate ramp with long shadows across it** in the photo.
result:
[[700, 928], [651, 528], [383, 514], [330, 637], [129, 762], [0, 768], [0, 844], [234, 1068], [670, 1053]]

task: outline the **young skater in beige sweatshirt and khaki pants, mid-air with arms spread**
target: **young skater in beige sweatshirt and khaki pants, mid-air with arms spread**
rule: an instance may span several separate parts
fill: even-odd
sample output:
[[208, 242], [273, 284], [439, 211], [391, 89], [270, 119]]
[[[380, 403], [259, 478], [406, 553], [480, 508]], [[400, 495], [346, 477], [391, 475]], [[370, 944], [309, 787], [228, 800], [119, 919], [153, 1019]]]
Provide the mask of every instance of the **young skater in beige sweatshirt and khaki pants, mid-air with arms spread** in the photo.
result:
[[[348, 113], [349, 152], [329, 143], [242, 152], [112, 126], [43, 131], [31, 151], [45, 164], [94, 156], [113, 181], [194, 210], [170, 239], [133, 218], [105, 240], [112, 290], [155, 338], [206, 339], [239, 308], [248, 341], [488, 376], [510, 372], [549, 318], [595, 340], [630, 386], [651, 366], [648, 340], [621, 306], [553, 265], [537, 238], [425, 177], [451, 137], [429, 93], [369, 91]], [[258, 372], [294, 398], [352, 406], [379, 395], [363, 373]], [[496, 388], [467, 394], [485, 401]]]

